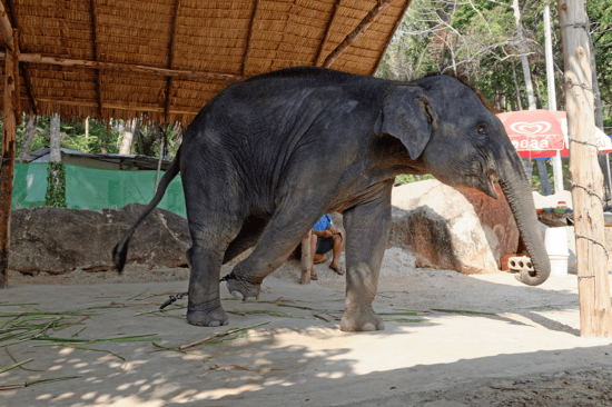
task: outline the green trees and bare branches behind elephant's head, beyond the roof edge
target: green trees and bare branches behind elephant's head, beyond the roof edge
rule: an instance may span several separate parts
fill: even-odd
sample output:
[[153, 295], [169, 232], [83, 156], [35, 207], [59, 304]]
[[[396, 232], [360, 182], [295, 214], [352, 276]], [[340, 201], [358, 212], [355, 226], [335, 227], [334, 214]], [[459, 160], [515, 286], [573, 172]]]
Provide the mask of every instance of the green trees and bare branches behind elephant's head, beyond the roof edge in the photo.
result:
[[[381, 67], [379, 78], [412, 80], [431, 72], [468, 79], [500, 111], [527, 109], [522, 53], [512, 0], [413, 0]], [[543, 9], [546, 2], [520, 0], [524, 54], [536, 107], [547, 108]], [[586, 1], [595, 47], [604, 131], [612, 132], [612, 2]], [[556, 109], [564, 110], [563, 50], [557, 1], [550, 2]]]

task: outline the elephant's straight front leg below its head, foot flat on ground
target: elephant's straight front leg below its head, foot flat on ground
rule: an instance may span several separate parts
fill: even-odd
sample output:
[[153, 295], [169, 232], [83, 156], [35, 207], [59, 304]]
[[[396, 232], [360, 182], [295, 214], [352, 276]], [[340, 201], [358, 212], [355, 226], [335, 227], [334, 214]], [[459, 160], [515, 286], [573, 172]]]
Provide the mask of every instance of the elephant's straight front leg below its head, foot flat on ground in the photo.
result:
[[391, 185], [377, 200], [344, 212], [346, 229], [346, 301], [340, 321], [345, 331], [383, 330], [385, 325], [372, 308], [378, 274], [388, 240]]

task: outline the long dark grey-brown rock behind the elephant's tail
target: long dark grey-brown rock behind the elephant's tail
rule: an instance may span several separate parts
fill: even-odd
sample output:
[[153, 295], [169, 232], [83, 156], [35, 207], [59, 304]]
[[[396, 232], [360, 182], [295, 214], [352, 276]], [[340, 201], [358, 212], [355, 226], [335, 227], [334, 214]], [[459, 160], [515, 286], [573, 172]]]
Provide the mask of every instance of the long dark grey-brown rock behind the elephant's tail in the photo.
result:
[[[79, 210], [40, 207], [12, 212], [9, 267], [21, 272], [63, 274], [76, 268], [111, 269], [111, 250], [144, 205], [119, 210]], [[156, 208], [130, 241], [128, 264], [185, 267], [191, 238], [187, 219]]]

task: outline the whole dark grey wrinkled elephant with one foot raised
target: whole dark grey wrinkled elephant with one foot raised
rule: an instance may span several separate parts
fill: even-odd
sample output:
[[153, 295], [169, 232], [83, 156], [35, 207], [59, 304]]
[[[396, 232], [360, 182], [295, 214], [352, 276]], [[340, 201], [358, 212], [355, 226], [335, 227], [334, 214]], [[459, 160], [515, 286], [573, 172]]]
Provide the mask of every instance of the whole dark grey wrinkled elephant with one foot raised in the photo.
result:
[[542, 284], [550, 264], [533, 198], [501, 121], [450, 77], [396, 82], [320, 68], [292, 68], [234, 85], [189, 125], [180, 152], [140, 220], [116, 247], [121, 270], [136, 226], [180, 171], [193, 238], [187, 319], [227, 324], [219, 269], [246, 249], [227, 280], [238, 298], [257, 297], [327, 212], [344, 215], [346, 305], [343, 330], [384, 329], [374, 312], [378, 271], [398, 173], [432, 173], [450, 186], [496, 198], [496, 177]]

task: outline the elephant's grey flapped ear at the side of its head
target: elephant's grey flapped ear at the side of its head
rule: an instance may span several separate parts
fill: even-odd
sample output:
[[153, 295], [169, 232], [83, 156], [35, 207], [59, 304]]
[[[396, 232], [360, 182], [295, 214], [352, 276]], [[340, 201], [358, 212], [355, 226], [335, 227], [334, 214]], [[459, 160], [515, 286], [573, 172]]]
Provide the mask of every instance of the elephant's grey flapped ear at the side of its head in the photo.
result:
[[397, 86], [383, 101], [381, 132], [396, 137], [415, 160], [430, 141], [434, 111], [422, 88]]

